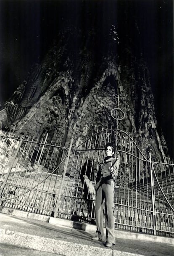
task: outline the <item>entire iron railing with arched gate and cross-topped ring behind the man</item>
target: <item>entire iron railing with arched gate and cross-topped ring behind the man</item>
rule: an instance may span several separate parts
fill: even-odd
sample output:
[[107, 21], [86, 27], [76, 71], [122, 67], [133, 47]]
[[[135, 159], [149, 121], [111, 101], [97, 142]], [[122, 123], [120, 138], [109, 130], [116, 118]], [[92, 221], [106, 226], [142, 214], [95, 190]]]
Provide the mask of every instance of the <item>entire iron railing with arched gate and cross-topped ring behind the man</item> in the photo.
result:
[[[111, 111], [114, 117], [119, 106]], [[124, 118], [120, 111], [121, 119]], [[119, 120], [117, 116], [116, 120]], [[127, 132], [102, 129], [69, 148], [58, 141], [0, 135], [2, 206], [95, 223], [96, 174], [112, 142], [120, 159], [115, 227], [174, 236], [174, 164], [146, 158]]]

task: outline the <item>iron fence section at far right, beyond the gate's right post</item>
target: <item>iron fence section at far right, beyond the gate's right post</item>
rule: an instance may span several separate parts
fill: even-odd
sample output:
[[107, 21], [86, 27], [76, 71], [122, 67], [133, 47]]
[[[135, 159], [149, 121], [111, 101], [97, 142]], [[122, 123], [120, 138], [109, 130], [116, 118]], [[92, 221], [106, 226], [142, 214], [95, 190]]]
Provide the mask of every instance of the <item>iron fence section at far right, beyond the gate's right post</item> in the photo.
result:
[[156, 231], [158, 234], [174, 234], [174, 165], [152, 163]]

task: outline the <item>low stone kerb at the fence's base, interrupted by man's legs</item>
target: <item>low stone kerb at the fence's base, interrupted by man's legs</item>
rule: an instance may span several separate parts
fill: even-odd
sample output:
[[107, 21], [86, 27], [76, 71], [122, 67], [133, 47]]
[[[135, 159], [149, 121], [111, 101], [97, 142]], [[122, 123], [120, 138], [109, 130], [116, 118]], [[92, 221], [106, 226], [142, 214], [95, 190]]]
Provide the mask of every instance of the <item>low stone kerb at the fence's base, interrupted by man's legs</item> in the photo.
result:
[[[83, 231], [92, 232], [92, 233], [96, 232], [96, 226], [92, 225], [92, 224], [88, 224], [88, 223], [73, 222], [73, 221], [67, 220], [67, 219], [53, 218], [50, 216], [29, 213], [26, 211], [20, 211], [20, 210], [11, 209], [11, 208], [3, 208], [1, 213], [12, 215], [12, 216], [40, 220], [42, 222], [48, 222], [55, 226], [69, 227], [69, 228], [74, 228], [74, 229], [83, 230]], [[169, 245], [174, 245], [174, 238], [167, 238], [167, 237], [154, 236], [154, 235], [148, 235], [148, 234], [140, 234], [140, 233], [134, 233], [134, 232], [124, 231], [124, 230], [117, 230], [117, 229], [115, 229], [115, 237], [123, 238], [123, 239], [143, 240], [143, 241], [149, 241], [149, 242], [166, 243]]]

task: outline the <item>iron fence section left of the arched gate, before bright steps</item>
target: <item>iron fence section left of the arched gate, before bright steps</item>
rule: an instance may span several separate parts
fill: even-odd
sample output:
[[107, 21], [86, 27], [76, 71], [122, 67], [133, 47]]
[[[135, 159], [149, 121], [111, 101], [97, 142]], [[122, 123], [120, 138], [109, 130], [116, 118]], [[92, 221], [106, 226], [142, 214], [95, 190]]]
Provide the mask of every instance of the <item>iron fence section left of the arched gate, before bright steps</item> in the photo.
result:
[[[3, 206], [53, 216], [68, 148], [57, 141], [0, 135]], [[66, 185], [66, 184], [65, 184]], [[2, 205], [1, 205], [2, 207]]]

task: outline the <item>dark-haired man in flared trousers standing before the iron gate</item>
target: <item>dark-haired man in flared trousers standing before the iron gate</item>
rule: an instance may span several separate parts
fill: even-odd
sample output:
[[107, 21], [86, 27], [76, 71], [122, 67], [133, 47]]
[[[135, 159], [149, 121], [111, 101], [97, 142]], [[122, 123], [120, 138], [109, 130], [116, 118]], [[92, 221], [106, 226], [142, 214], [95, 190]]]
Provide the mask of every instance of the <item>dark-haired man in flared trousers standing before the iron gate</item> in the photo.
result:
[[103, 209], [105, 205], [105, 228], [106, 228], [106, 246], [111, 247], [115, 244], [114, 236], [114, 178], [118, 175], [119, 158], [113, 158], [114, 148], [111, 144], [105, 146], [106, 157], [97, 173], [96, 180], [96, 199], [95, 199], [95, 216], [97, 231], [92, 240], [102, 240], [104, 237], [103, 228]]

